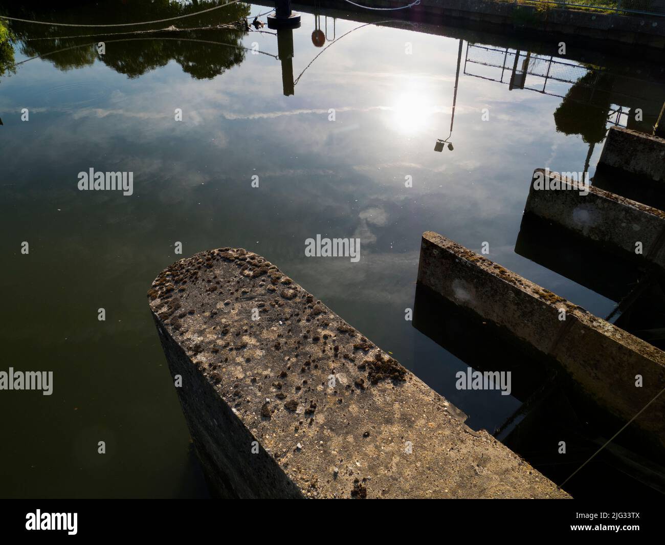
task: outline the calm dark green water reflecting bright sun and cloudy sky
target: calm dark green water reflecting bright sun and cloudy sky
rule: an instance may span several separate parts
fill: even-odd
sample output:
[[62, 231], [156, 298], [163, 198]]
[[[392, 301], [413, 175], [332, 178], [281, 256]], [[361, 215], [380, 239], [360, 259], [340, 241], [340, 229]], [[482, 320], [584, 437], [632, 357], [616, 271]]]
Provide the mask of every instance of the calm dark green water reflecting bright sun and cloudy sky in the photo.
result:
[[[122, 23], [214, 5], [199, 4], [0, 1], [0, 13]], [[237, 4], [173, 24], [265, 11]], [[591, 71], [562, 57], [549, 66], [563, 81], [527, 76], [525, 87], [545, 84], [545, 94], [510, 89], [517, 48], [504, 56], [493, 35], [469, 43], [398, 23], [327, 24], [338, 40], [324, 51], [313, 45], [315, 17], [303, 13], [293, 75], [323, 53], [285, 96], [267, 28], [57, 39], [94, 30], [12, 23], [15, 73], [5, 58], [0, 77], [0, 369], [53, 371], [54, 385], [51, 396], [0, 392], [0, 496], [207, 495], [145, 295], [160, 270], [201, 250], [262, 254], [490, 431], [519, 401], [457, 391], [466, 364], [404, 319], [422, 232], [477, 252], [489, 242], [492, 260], [597, 315], [612, 310], [610, 299], [516, 254], [515, 241], [533, 170], [588, 162], [593, 174], [607, 126], [652, 124], [662, 68], [610, 58]], [[519, 45], [519, 63], [530, 47]], [[504, 83], [486, 66], [497, 59]], [[548, 60], [534, 57], [532, 71], [545, 74]], [[435, 152], [451, 132], [458, 61], [454, 150]], [[79, 191], [78, 172], [90, 168], [133, 172], [133, 194]], [[317, 234], [360, 238], [360, 262], [306, 258]]]

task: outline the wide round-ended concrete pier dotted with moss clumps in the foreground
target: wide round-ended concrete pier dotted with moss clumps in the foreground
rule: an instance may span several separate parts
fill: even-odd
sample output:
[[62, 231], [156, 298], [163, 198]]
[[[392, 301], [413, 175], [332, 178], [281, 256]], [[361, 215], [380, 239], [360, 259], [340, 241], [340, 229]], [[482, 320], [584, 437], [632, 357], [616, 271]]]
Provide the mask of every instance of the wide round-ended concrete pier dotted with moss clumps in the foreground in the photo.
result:
[[220, 495], [569, 497], [261, 256], [201, 252], [148, 296]]

